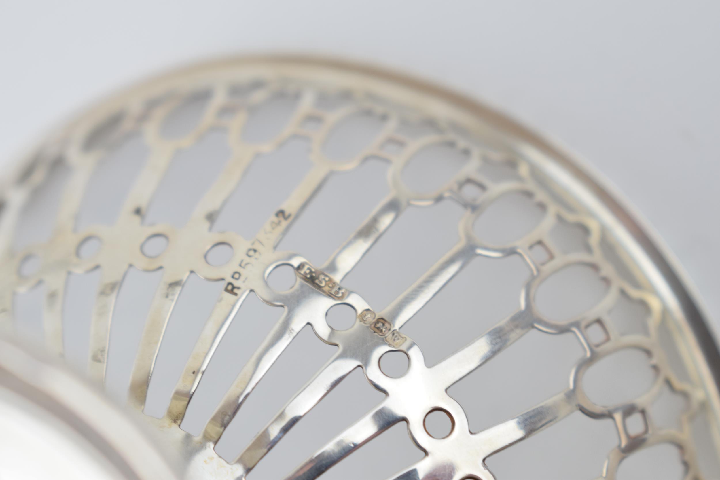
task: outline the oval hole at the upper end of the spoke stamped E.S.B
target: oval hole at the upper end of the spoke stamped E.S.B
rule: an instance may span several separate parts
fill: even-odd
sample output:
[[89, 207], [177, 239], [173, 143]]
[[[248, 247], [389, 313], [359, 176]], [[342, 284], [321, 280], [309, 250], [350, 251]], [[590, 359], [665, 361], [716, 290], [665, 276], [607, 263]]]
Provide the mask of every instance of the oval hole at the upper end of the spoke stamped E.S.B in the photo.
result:
[[410, 157], [401, 178], [409, 189], [420, 194], [437, 191], [464, 166], [469, 152], [453, 143], [433, 143], [420, 148]]

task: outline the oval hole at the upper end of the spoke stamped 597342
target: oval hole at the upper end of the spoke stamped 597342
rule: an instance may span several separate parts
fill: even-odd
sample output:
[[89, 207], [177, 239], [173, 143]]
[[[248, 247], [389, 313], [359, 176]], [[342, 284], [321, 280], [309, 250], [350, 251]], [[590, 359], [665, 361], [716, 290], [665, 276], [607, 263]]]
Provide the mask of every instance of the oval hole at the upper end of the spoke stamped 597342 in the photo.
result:
[[352, 160], [382, 130], [385, 118], [372, 112], [356, 112], [341, 119], [328, 134], [323, 153], [330, 160]]

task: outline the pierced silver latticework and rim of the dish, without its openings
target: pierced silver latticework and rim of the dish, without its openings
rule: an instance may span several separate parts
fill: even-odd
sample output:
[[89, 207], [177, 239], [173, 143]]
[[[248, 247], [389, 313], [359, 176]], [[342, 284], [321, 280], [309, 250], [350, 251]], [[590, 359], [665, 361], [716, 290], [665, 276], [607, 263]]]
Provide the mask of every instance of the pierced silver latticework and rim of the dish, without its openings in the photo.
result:
[[[326, 104], [331, 101], [338, 106], [328, 108]], [[201, 107], [193, 117], [196, 104]], [[288, 112], [285, 117], [270, 112], [283, 108]], [[181, 117], [179, 112], [184, 112], [184, 123], [175, 119]], [[343, 128], [351, 128], [343, 125], [359, 125], [359, 114], [379, 119], [379, 127], [372, 135], [361, 144], [355, 142], [357, 145], [351, 141], [353, 135], [346, 140], [332, 140], [333, 135], [342, 137]], [[360, 132], [363, 127], [352, 128]], [[181, 220], [172, 225], [148, 225], [145, 214], [156, 191], [165, 188], [163, 181], [175, 175], [173, 168], [179, 168], [174, 164], [176, 154], [205, 141], [209, 132], [226, 133], [228, 158], [222, 163], [211, 165], [208, 160], [202, 164], [194, 181], [183, 184], [184, 193], [166, 200], [171, 207], [189, 204], [187, 221], [180, 214]], [[107, 219], [107, 225], [92, 223], [76, 230], [76, 217], [86, 192], [94, 189], [99, 196], [104, 193], [91, 183], [96, 166], [120, 140], [132, 135], [140, 135], [146, 142], [149, 155], [144, 162], [138, 162], [136, 176], [118, 173], [117, 185], [127, 184], [127, 196], [117, 208], [117, 217]], [[226, 201], [253, 160], [278, 150], [291, 137], [306, 139], [311, 145], [312, 166], [305, 176], [294, 181], [297, 186], [280, 192], [284, 201], [276, 205], [253, 237], [213, 231], [221, 214], [232, 217], [241, 213], [226, 210]], [[406, 166], [433, 145], [449, 145], [462, 154], [464, 163], [447, 181], [421, 191], [421, 187], [408, 185], [405, 173], [410, 167]], [[283, 235], [302, 218], [305, 206], [333, 173], [351, 171], [374, 158], [383, 159], [389, 166], [390, 194], [325, 263], [313, 264], [302, 256], [302, 251], [276, 250]], [[436, 163], [442, 162], [443, 158], [438, 158]], [[508, 167], [511, 174], [498, 180], [485, 174], [485, 167]], [[207, 173], [212, 168], [215, 171]], [[67, 177], [61, 186], [48, 181], [60, 175]], [[423, 181], [432, 183], [434, 175], [427, 173]], [[282, 171], [276, 173], [276, 178], [283, 184], [287, 181]], [[266, 188], [274, 189], [274, 185]], [[62, 314], [66, 276], [68, 272], [101, 268], [89, 335], [89, 376], [94, 381], [104, 381], [109, 349], [112, 356], [109, 335], [114, 302], [128, 267], [142, 271], [162, 268], [162, 280], [132, 369], [132, 408], [142, 410], [145, 406], [163, 334], [189, 274], [222, 281], [222, 291], [187, 359], [166, 414], [159, 420], [147, 417], [180, 453], [178, 461], [187, 479], [245, 478], [328, 391], [359, 366], [369, 383], [386, 394], [385, 399], [294, 468], [288, 478], [320, 476], [399, 422], [407, 423], [413, 442], [426, 452], [418, 463], [392, 476], [403, 480], [495, 479], [486, 459], [512, 449], [577, 411], [593, 419], [610, 419], [616, 426], [618, 443], [606, 456], [605, 465], [598, 466], [598, 478], [602, 479], [614, 479], [624, 458], [660, 443], [676, 445], [682, 452], [685, 478], [703, 478], [697, 445], [690, 435], [690, 420], [706, 415], [715, 441], [720, 438], [720, 356], [687, 287], [642, 227], [567, 155], [505, 117], [433, 86], [368, 68], [318, 60], [257, 58], [203, 65], [145, 83], [81, 117], [32, 152], [6, 181], [2, 192], [0, 325], [12, 330], [14, 322], [22, 322], [22, 318], [13, 320], [19, 317], [17, 312], [13, 314], [13, 297], [42, 282], [45, 347], [62, 356], [63, 321], [67, 320]], [[521, 194], [544, 214], [518, 237], [503, 244], [487, 243], [475, 228], [477, 219], [489, 212], [494, 202], [510, 194]], [[50, 198], [56, 211], [49, 227], [42, 222], [39, 211], [32, 209], [40, 196]], [[343, 283], [409, 207], [430, 207], [440, 201], [454, 201], [464, 209], [457, 226], [459, 242], [387, 307], [369, 304], [363, 291], [353, 291]], [[253, 209], [253, 204], [243, 204], [240, 209]], [[33, 215], [40, 226], [31, 225]], [[508, 225], [522, 216], [523, 212], [518, 212], [508, 217]], [[333, 217], [328, 215], [327, 222], [333, 225]], [[559, 222], [582, 227], [588, 248], [564, 252], [550, 235]], [[51, 231], [47, 238], [40, 238], [43, 228]], [[30, 240], [20, 238], [21, 230], [30, 232], [24, 235]], [[101, 240], [102, 248], [89, 258], [81, 258], [78, 247], [89, 237]], [[143, 255], [140, 246], [158, 237], [167, 240], [164, 250]], [[218, 244], [233, 248], [233, 258], [223, 266], [211, 265], [205, 259], [206, 252]], [[22, 263], [31, 255], [40, 258], [41, 265], [37, 271], [23, 272]], [[426, 366], [420, 347], [402, 332], [402, 326], [474, 258], [508, 255], [519, 255], [531, 273], [518, 291], [520, 309], [497, 319], [496, 325], [478, 338], [465, 340], [466, 345], [453, 355]], [[274, 268], [284, 264], [295, 268], [302, 281], [296, 281], [287, 291], [272, 289], [268, 277]], [[578, 265], [597, 272], [606, 285], [602, 298], [569, 319], [549, 317], [538, 307], [536, 293], [555, 273]], [[384, 276], [387, 272], [374, 274]], [[284, 307], [284, 314], [257, 345], [202, 433], [193, 437], [179, 425], [202, 386], [228, 323], [251, 291], [268, 304]], [[621, 295], [647, 306], [649, 315], [643, 319], [647, 335], [621, 335], [618, 326], [609, 320], [609, 312]], [[358, 321], [348, 330], [333, 330], [325, 322], [325, 312], [338, 303], [351, 305], [358, 314]], [[477, 309], [480, 311], [482, 305]], [[451, 316], [453, 312], [446, 314]], [[274, 361], [306, 325], [312, 325], [325, 343], [338, 345], [336, 354], [305, 387], [287, 399], [282, 411], [237, 458], [226, 462], [215, 453], [216, 443]], [[685, 378], [680, 378], [678, 367], [671, 365], [669, 347], [657, 334], [661, 325], [672, 332], [670, 347], [680, 352], [681, 368], [688, 371]], [[601, 332], [600, 338], [589, 337], [591, 326]], [[437, 319], [436, 327], [444, 328], [443, 319]], [[569, 372], [567, 388], [526, 412], [517, 412], [516, 417], [471, 433], [463, 408], [446, 390], [531, 330], [545, 335], [575, 335], [582, 346], [584, 356]], [[652, 386], [629, 402], [596, 404], [583, 388], [585, 373], [603, 358], [624, 349], [647, 354], [655, 373]], [[402, 350], [410, 359], [408, 371], [399, 378], [387, 376], [379, 368], [379, 358], [391, 350]], [[526, 361], [530, 363], [533, 358]], [[677, 429], [659, 427], [653, 421], [650, 407], [665, 386], [687, 400]], [[451, 419], [451, 433], [444, 438], [433, 438], [424, 425], [426, 415], [437, 410], [446, 412]], [[635, 415], [643, 420], [640, 431], [627, 427], [627, 420]], [[716, 443], [710, 451], [720, 452], [719, 445]], [[387, 455], [392, 456], [392, 452]]]

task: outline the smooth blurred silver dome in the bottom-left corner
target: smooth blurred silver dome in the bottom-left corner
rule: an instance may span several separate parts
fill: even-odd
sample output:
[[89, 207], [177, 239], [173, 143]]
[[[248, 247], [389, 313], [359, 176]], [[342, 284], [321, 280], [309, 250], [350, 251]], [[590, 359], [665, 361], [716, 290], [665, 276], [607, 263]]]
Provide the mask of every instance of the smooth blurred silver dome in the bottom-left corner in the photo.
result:
[[0, 339], [0, 478], [179, 478], [135, 422], [40, 357]]

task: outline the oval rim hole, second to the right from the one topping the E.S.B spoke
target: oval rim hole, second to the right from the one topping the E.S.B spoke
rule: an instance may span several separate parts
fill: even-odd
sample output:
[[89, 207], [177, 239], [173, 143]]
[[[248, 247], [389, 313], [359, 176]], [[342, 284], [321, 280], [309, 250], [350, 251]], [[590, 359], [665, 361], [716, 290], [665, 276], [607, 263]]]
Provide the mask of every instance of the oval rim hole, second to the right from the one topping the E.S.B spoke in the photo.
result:
[[550, 320], [564, 322], [595, 307], [607, 291], [608, 284], [595, 268], [577, 263], [545, 279], [535, 294], [535, 304]]

